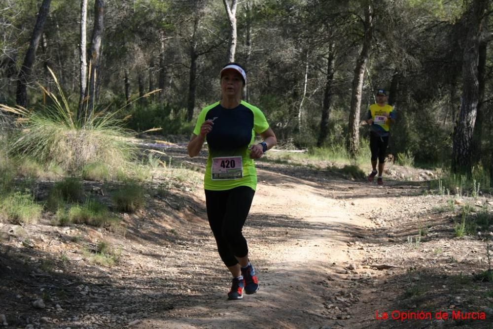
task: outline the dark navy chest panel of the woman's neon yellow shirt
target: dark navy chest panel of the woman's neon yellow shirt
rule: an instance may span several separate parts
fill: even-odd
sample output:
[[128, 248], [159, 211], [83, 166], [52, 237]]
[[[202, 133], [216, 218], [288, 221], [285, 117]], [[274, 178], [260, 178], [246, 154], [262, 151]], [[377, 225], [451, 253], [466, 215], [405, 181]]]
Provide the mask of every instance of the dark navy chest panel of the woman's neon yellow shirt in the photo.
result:
[[212, 153], [246, 149], [253, 129], [253, 112], [248, 107], [240, 104], [229, 109], [218, 104], [206, 114], [206, 120], [213, 118], [216, 119], [212, 131], [207, 134], [207, 143]]

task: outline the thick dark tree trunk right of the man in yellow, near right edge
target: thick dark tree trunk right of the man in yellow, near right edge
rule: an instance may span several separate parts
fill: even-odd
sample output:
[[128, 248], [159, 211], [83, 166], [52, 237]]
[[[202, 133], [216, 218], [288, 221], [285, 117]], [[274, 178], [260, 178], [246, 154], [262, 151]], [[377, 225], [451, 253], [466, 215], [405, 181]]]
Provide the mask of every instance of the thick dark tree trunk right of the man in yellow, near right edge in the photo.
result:
[[452, 170], [471, 173], [471, 145], [479, 102], [479, 36], [489, 0], [475, 0], [465, 13], [467, 38], [462, 54], [462, 101], [453, 138]]

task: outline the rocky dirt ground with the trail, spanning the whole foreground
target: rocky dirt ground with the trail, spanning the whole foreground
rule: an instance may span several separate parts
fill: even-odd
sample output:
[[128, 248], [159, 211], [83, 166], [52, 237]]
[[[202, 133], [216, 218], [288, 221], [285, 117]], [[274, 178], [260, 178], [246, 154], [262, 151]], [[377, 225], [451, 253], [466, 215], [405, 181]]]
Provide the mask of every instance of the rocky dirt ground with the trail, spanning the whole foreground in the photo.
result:
[[[490, 228], [456, 237], [464, 207], [491, 218], [490, 195], [440, 196], [425, 182], [433, 172], [396, 165], [379, 188], [336, 166], [259, 161], [244, 232], [261, 288], [228, 301], [203, 191], [189, 180], [202, 175], [205, 154], [166, 153], [188, 177], [166, 182], [164, 196], [149, 186], [144, 210], [119, 214], [123, 229], [0, 223], [0, 325], [492, 328], [493, 285], [482, 275]], [[101, 241], [118, 251], [116, 265], [91, 262]]]

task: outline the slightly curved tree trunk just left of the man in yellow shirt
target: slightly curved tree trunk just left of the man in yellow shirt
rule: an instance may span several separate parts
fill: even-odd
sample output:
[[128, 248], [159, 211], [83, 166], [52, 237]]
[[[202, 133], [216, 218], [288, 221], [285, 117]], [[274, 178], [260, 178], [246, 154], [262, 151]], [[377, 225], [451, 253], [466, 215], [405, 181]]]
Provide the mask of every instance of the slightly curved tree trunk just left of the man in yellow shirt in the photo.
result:
[[359, 113], [361, 108], [361, 96], [363, 91], [363, 80], [368, 56], [370, 55], [371, 40], [373, 35], [373, 8], [371, 4], [365, 6], [365, 36], [363, 47], [356, 61], [354, 78], [352, 80], [351, 108], [349, 114], [349, 132], [347, 140], [347, 151], [350, 157], [355, 158], [359, 150]]

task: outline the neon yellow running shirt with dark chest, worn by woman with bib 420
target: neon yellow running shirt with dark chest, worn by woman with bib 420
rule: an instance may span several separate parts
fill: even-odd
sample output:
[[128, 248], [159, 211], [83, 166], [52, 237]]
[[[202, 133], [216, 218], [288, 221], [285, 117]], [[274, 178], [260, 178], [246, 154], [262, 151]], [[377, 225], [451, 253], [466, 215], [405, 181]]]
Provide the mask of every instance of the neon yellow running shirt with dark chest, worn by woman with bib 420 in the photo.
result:
[[202, 109], [193, 133], [200, 134], [206, 120], [213, 120], [206, 136], [209, 148], [204, 189], [230, 190], [238, 186], [257, 187], [257, 172], [248, 149], [255, 133], [265, 132], [269, 124], [257, 107], [241, 101], [235, 108], [224, 108], [216, 102]]

